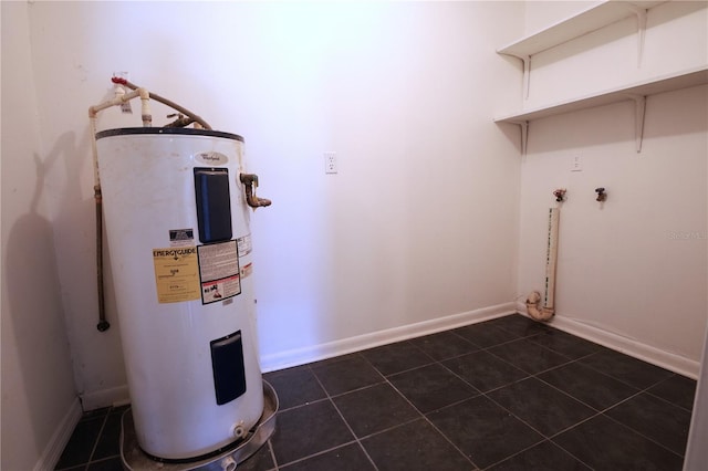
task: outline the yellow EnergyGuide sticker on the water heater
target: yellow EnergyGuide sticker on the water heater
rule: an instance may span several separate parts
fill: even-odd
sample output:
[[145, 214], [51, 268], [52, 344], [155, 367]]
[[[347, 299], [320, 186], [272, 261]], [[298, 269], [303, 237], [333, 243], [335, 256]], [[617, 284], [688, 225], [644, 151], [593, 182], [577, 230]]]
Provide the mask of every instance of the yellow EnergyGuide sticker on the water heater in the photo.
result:
[[153, 249], [153, 264], [158, 303], [179, 303], [199, 299], [196, 247]]

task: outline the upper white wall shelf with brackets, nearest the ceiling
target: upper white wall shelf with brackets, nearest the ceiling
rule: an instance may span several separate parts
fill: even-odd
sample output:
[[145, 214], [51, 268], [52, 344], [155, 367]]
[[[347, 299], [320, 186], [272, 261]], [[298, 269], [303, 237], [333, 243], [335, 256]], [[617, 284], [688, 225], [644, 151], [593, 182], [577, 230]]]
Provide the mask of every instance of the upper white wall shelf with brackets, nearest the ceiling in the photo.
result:
[[518, 57], [523, 63], [524, 98], [529, 97], [531, 75], [531, 56], [575, 38], [597, 31], [628, 17], [637, 17], [637, 66], [642, 63], [644, 35], [646, 31], [646, 11], [657, 4], [658, 0], [625, 1], [608, 0], [591, 7], [549, 28], [520, 39], [497, 50], [497, 53]]

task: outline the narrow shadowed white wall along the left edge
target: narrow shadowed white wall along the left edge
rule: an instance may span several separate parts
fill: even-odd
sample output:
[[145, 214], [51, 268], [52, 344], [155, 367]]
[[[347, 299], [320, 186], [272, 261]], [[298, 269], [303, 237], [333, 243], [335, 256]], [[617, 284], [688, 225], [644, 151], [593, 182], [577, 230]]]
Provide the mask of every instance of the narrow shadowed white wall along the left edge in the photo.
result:
[[[81, 414], [69, 354], [24, 2], [2, 2], [2, 470], [53, 467]], [[65, 427], [64, 427], [65, 426]], [[52, 457], [53, 454], [53, 457]]]

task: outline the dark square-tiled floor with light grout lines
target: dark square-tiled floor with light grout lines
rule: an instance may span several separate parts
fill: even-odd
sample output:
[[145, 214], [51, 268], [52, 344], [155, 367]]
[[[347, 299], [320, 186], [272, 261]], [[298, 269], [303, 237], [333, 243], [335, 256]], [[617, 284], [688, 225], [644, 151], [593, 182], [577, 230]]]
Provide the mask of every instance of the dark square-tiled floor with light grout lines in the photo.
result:
[[[264, 375], [280, 399], [250, 471], [680, 470], [696, 381], [521, 315]], [[56, 469], [119, 470], [122, 409]]]

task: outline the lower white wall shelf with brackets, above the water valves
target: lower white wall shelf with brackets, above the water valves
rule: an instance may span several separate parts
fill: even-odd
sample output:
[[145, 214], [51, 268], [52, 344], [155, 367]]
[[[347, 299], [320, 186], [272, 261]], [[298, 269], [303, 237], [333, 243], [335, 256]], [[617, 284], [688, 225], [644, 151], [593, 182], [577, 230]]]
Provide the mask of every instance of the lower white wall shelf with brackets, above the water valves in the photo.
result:
[[636, 104], [636, 148], [642, 150], [644, 135], [644, 111], [646, 97], [657, 93], [691, 86], [708, 84], [708, 65], [689, 69], [670, 75], [663, 75], [650, 80], [637, 82], [626, 86], [606, 90], [591, 95], [580, 96], [564, 102], [553, 103], [546, 106], [524, 109], [511, 115], [494, 118], [494, 123], [512, 123], [521, 126], [521, 153], [525, 154], [529, 122], [543, 117], [587, 109], [595, 106], [607, 105], [626, 100], [634, 100]]

